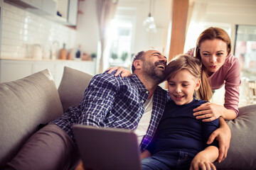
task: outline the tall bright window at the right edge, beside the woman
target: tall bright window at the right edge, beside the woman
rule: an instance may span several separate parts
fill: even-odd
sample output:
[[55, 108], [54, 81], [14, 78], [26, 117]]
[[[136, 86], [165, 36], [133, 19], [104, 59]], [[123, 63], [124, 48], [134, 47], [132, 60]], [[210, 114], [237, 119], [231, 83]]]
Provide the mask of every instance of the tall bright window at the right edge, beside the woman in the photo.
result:
[[236, 26], [235, 56], [241, 68], [240, 103], [256, 103], [256, 26]]

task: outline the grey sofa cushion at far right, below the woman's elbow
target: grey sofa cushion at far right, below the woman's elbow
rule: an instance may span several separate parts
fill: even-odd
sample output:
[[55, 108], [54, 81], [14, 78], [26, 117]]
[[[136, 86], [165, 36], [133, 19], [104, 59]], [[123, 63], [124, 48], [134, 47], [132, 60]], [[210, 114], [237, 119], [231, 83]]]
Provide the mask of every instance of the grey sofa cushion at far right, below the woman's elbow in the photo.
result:
[[217, 169], [256, 169], [256, 104], [239, 108], [238, 118], [228, 121], [232, 133], [228, 157]]

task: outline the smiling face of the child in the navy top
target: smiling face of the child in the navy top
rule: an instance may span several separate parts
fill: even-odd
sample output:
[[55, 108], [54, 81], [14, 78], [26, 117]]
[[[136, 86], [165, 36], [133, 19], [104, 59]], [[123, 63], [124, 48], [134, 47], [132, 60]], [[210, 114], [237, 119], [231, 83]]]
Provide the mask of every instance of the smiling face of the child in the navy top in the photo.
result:
[[174, 78], [168, 79], [168, 91], [176, 105], [184, 105], [193, 101], [193, 93], [200, 86], [200, 80], [196, 79], [187, 69], [181, 69]]

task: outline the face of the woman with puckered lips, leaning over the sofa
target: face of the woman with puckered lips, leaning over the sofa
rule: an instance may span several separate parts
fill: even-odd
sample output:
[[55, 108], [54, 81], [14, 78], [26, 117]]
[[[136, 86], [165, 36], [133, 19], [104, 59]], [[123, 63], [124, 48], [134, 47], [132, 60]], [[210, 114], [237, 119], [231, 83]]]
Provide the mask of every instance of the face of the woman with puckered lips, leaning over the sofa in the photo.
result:
[[225, 62], [228, 55], [227, 44], [223, 40], [204, 40], [200, 45], [201, 60], [210, 76], [217, 72]]

